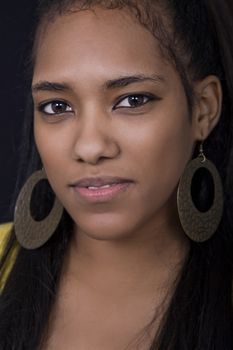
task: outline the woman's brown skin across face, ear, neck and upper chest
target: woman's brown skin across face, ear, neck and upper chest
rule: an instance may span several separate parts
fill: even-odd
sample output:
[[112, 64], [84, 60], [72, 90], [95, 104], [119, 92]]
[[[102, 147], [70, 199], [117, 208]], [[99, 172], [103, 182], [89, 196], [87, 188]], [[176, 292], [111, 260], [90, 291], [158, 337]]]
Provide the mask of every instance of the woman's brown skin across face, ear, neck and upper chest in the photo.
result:
[[[138, 74], [159, 79], [103, 87]], [[214, 76], [195, 83], [190, 121], [180, 77], [155, 38], [127, 12], [99, 8], [57, 17], [46, 27], [33, 85], [44, 80], [69, 86], [34, 90], [33, 96], [36, 144], [75, 231], [43, 349], [122, 350], [157, 312], [155, 332], [187, 255], [177, 184], [196, 141], [218, 121], [221, 86]], [[157, 98], [137, 108], [127, 98], [119, 102], [122, 95], [142, 93]], [[58, 99], [67, 103], [66, 113], [38, 111], [38, 104]], [[134, 184], [101, 205], [79, 200], [69, 187], [104, 175]], [[139, 348], [147, 349], [149, 339]]]

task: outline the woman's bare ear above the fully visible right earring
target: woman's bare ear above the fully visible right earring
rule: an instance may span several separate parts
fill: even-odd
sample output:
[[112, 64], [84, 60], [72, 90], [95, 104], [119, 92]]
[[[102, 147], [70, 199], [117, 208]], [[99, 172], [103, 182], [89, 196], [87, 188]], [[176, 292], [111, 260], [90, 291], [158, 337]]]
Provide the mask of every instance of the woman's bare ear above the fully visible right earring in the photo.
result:
[[219, 121], [222, 109], [222, 87], [218, 77], [210, 75], [194, 86], [195, 105], [192, 125], [197, 141], [205, 140]]

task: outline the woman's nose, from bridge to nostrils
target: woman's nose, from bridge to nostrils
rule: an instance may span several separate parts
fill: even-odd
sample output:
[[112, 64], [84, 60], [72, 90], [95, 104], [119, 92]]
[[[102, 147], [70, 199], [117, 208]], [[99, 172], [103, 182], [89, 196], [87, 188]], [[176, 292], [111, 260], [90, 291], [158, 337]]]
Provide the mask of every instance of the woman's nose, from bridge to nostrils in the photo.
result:
[[96, 165], [104, 159], [113, 159], [120, 152], [106, 118], [82, 116], [73, 147], [73, 159]]

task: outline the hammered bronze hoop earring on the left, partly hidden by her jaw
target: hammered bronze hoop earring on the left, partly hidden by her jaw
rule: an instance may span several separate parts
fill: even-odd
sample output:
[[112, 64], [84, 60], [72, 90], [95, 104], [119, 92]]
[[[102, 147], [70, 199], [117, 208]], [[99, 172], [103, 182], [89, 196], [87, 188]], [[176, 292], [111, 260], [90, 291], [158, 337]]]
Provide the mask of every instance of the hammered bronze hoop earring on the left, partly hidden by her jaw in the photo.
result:
[[63, 213], [61, 203], [55, 198], [53, 207], [45, 219], [36, 221], [32, 218], [30, 211], [32, 192], [44, 179], [47, 179], [47, 176], [43, 169], [33, 173], [24, 184], [16, 201], [15, 235], [20, 245], [26, 249], [35, 249], [45, 244], [54, 233]]

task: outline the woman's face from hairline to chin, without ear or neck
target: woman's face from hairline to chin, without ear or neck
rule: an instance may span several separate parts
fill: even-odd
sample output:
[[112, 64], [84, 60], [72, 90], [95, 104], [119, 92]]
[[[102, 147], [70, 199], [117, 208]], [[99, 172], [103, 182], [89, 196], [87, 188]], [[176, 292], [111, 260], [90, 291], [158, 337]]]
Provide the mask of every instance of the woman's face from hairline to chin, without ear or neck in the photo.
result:
[[194, 130], [149, 31], [120, 10], [57, 17], [38, 40], [33, 96], [45, 171], [79, 230], [119, 239], [174, 229]]

